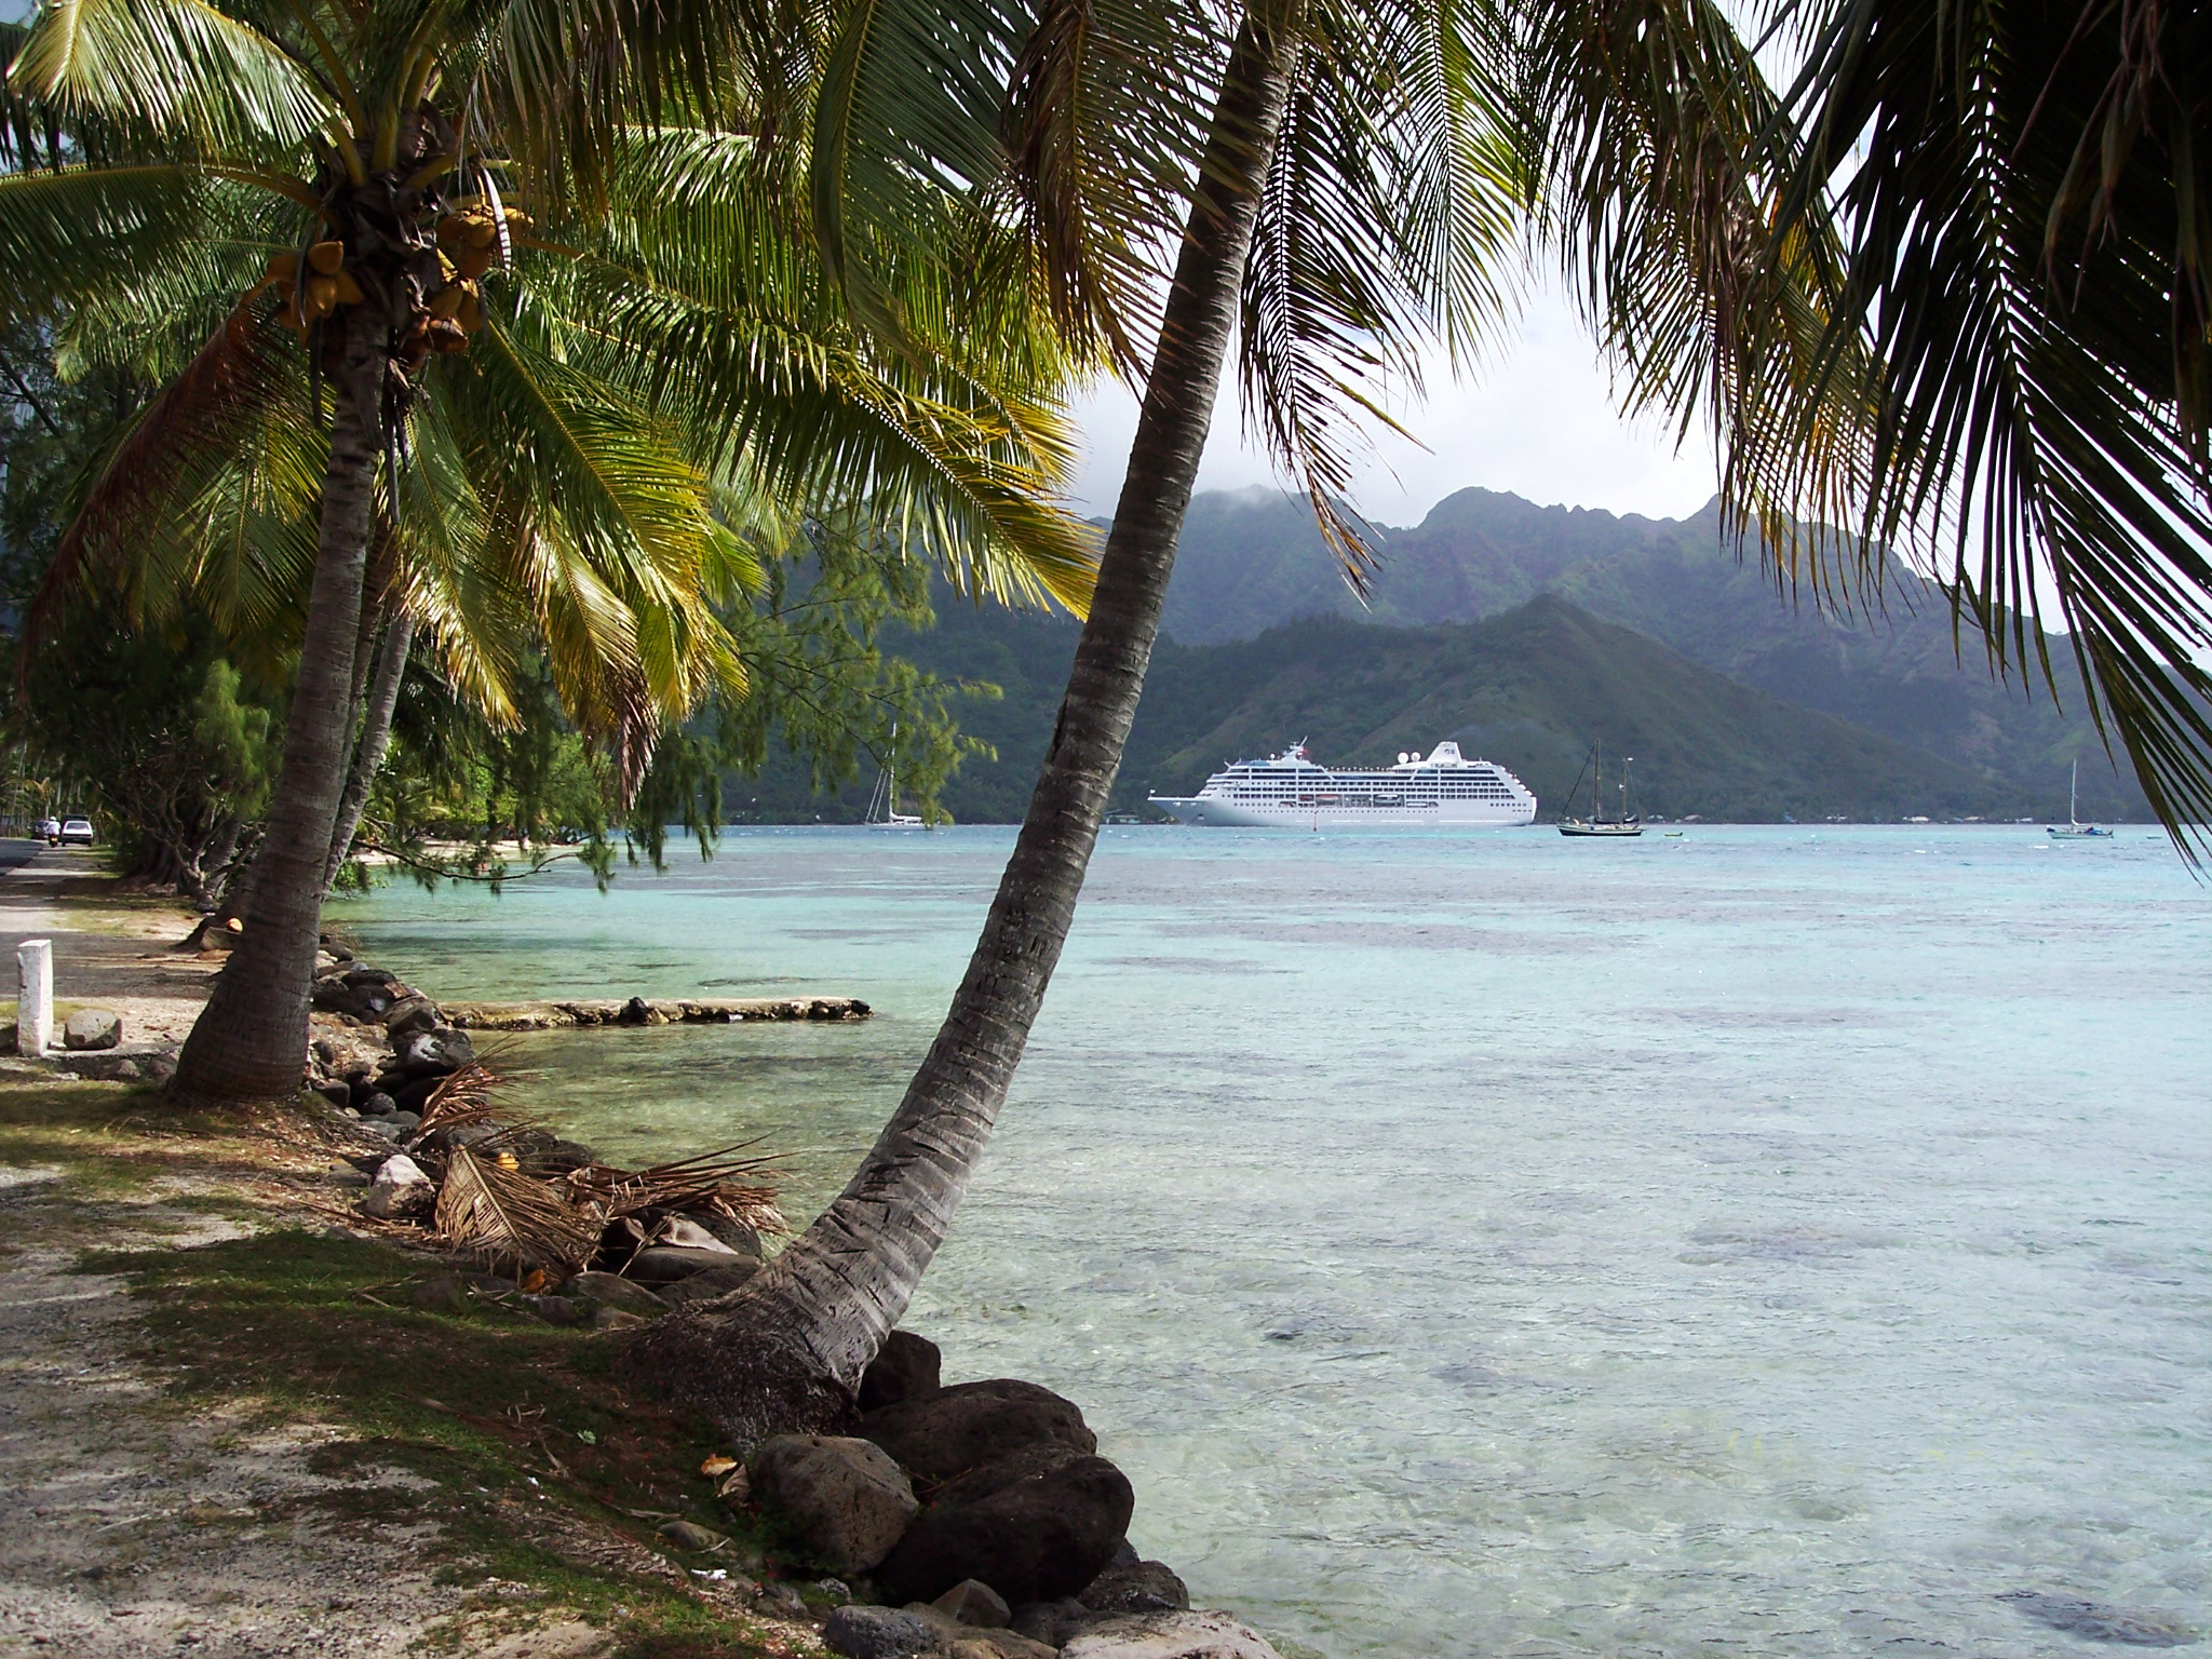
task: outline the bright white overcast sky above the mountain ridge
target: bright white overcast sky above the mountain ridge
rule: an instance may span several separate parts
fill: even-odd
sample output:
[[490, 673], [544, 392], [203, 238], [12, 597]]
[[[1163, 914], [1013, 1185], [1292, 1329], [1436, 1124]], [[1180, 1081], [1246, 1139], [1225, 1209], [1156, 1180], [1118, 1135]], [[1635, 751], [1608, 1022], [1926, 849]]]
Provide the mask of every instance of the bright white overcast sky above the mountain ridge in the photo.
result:
[[[1420, 438], [1389, 438], [1354, 504], [1378, 524], [1418, 524], [1444, 495], [1469, 484], [1509, 489], [1553, 507], [1686, 518], [1712, 500], [1712, 447], [1701, 434], [1679, 451], [1650, 420], [1615, 414], [1590, 336], [1557, 296], [1537, 296], [1509, 343], [1453, 385], [1440, 361], [1429, 398], [1398, 411]], [[1137, 405], [1117, 385], [1084, 403], [1088, 451], [1077, 487], [1082, 511], [1113, 513], [1137, 429]], [[1199, 489], [1276, 482], [1267, 458], [1243, 442], [1234, 389], [1214, 409]]]

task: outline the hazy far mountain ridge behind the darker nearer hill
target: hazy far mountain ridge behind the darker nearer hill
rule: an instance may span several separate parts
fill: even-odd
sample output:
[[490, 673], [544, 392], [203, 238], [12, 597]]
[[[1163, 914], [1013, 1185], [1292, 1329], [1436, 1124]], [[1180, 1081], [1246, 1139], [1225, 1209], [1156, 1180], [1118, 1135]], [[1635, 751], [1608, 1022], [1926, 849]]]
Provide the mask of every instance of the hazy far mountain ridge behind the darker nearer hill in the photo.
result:
[[1909, 573], [1893, 573], [1882, 615], [1838, 622], [1792, 606], [1756, 560], [1723, 546], [1712, 509], [1688, 520], [1617, 518], [1482, 489], [1438, 502], [1416, 529], [1383, 531], [1380, 549], [1374, 604], [1363, 613], [1296, 500], [1201, 495], [1166, 628], [1186, 644], [1250, 639], [1307, 615], [1418, 628], [1493, 617], [1553, 593], [1730, 679], [1940, 754], [2015, 794], [2046, 799], [2079, 757], [2084, 812], [2148, 816], [2132, 776], [2110, 765], [2079, 708], [2068, 717], [2044, 695], [1993, 684], [1971, 637], [1960, 666], [1942, 593]]

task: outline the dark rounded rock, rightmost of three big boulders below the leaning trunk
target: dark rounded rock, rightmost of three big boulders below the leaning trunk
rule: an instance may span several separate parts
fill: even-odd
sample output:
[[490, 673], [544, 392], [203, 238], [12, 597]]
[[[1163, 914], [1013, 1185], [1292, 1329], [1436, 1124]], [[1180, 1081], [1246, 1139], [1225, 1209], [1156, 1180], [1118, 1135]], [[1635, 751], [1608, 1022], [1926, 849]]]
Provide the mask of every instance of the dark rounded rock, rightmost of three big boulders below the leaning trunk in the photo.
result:
[[1057, 1601], [1113, 1559], [1137, 1493], [1099, 1455], [1042, 1442], [938, 1489], [876, 1582], [929, 1601], [982, 1579], [1009, 1601]]

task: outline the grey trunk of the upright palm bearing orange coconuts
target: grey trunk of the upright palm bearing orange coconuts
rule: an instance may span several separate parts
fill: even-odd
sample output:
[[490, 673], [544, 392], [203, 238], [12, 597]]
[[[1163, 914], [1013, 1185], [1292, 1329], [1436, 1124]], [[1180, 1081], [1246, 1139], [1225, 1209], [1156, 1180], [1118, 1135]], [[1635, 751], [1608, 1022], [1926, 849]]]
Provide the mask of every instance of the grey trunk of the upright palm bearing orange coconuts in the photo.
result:
[[307, 633], [301, 639], [283, 770], [248, 878], [243, 933], [177, 1057], [188, 1099], [290, 1099], [307, 1064], [307, 989], [323, 918], [323, 867], [354, 732], [361, 588], [383, 458], [387, 325], [369, 305], [341, 312], [332, 376], [330, 471]]

